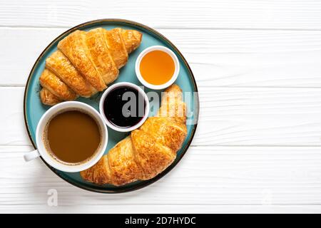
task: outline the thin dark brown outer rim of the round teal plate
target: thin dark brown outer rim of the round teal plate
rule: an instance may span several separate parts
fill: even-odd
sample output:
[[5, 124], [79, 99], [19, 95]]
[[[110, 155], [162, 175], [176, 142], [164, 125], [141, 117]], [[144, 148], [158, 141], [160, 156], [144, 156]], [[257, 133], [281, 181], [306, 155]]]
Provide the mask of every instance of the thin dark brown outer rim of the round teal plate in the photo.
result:
[[[123, 23], [123, 24], [131, 24], [133, 26], [138, 26], [138, 27], [141, 27], [141, 28], [144, 28], [148, 31], [150, 31], [151, 33], [154, 33], [156, 34], [157, 36], [160, 36], [161, 38], [163, 38], [166, 42], [168, 42], [170, 44], [170, 46], [178, 53], [178, 55], [180, 56], [180, 58], [183, 60], [185, 66], [187, 67], [188, 69], [188, 73], [190, 74], [191, 76], [191, 79], [192, 79], [192, 82], [193, 82], [193, 87], [194, 87], [194, 90], [195, 92], [198, 93], [198, 86], [196, 84], [196, 81], [195, 81], [195, 77], [193, 75], [193, 72], [192, 70], [190, 69], [190, 66], [188, 65], [188, 62], [185, 60], [184, 56], [182, 53], [180, 53], [180, 51], [178, 50], [178, 48], [176, 48], [176, 46], [170, 42], [168, 40], [168, 38], [166, 38], [165, 36], [163, 36], [161, 33], [159, 33], [158, 31], [156, 31], [155, 29], [151, 28], [151, 27], [148, 27], [144, 24], [141, 24], [141, 23], [138, 23], [136, 21], [130, 21], [130, 20], [127, 20], [127, 19], [96, 19], [96, 20], [93, 20], [93, 21], [86, 21], [82, 24], [78, 24], [77, 26], [73, 26], [72, 28], [69, 28], [67, 29], [66, 31], [64, 31], [63, 33], [61, 33], [59, 36], [57, 36], [56, 38], [54, 38], [53, 41], [51, 41], [51, 43], [49, 43], [48, 46], [46, 46], [46, 48], [44, 48], [44, 51], [41, 52], [41, 54], [39, 55], [39, 57], [36, 59], [35, 63], [34, 63], [34, 66], [31, 68], [31, 71], [29, 73], [29, 76], [28, 76], [28, 79], [26, 81], [26, 87], [24, 89], [24, 123], [25, 123], [25, 126], [26, 126], [26, 131], [28, 133], [28, 136], [29, 136], [29, 140], [31, 141], [31, 144], [33, 145], [34, 149], [36, 150], [37, 147], [36, 147], [36, 143], [34, 142], [34, 140], [32, 139], [31, 137], [31, 131], [29, 129], [29, 123], [28, 123], [28, 119], [26, 117], [26, 96], [27, 96], [27, 91], [29, 90], [29, 83], [31, 81], [31, 78], [32, 76], [34, 75], [34, 71], [36, 69], [36, 66], [38, 66], [39, 64], [39, 61], [41, 61], [41, 58], [43, 58], [44, 54], [46, 53], [46, 51], [49, 50], [49, 48], [51, 48], [53, 46], [54, 43], [56, 43], [56, 41], [60, 38], [62, 38], [63, 36], [65, 36], [67, 33], [71, 33], [72, 31], [75, 31], [77, 29], [81, 29], [82, 27], [84, 26], [90, 26], [92, 24], [97, 24], [97, 23], [104, 23], [104, 22], [116, 22], [116, 23]], [[151, 185], [153, 184], [154, 182], [160, 180], [162, 177], [164, 177], [165, 175], [168, 174], [168, 172], [170, 172], [171, 170], [173, 170], [173, 168], [178, 164], [178, 162], [180, 162], [180, 160], [184, 157], [185, 153], [187, 152], [188, 148], [190, 147], [190, 143], [192, 142], [194, 136], [195, 136], [195, 131], [196, 131], [196, 128], [198, 126], [198, 118], [199, 118], [199, 113], [200, 113], [200, 100], [199, 100], [199, 97], [197, 96], [197, 100], [196, 100], [197, 104], [198, 104], [198, 109], [196, 111], [196, 120], [197, 122], [195, 123], [195, 125], [193, 126], [193, 129], [192, 129], [192, 133], [190, 135], [190, 139], [188, 140], [187, 144], [185, 145], [185, 148], [184, 150], [182, 151], [180, 157], [178, 157], [178, 160], [175, 160], [172, 164], [170, 164], [170, 166], [168, 166], [165, 170], [163, 170], [163, 172], [159, 173], [156, 177], [153, 177], [152, 179], [150, 180], [145, 180], [144, 182], [142, 182], [141, 185], [137, 185], [137, 186], [131, 186], [131, 187], [128, 187], [124, 190], [120, 189], [120, 190], [103, 190], [103, 189], [96, 189], [95, 187], [91, 187], [91, 186], [84, 186], [84, 185], [80, 185], [78, 184], [78, 182], [71, 182], [70, 180], [68, 180], [68, 178], [66, 177], [63, 177], [62, 175], [60, 175], [58, 172], [56, 172], [57, 170], [54, 169], [53, 167], [51, 167], [41, 156], [41, 160], [42, 162], [44, 162], [44, 164], [49, 167], [49, 169], [54, 172], [55, 175], [57, 175], [58, 177], [60, 177], [62, 180], [68, 182], [70, 185], [73, 185], [75, 187], [79, 187], [80, 189], [82, 190], [87, 190], [87, 191], [90, 191], [90, 192], [98, 192], [98, 193], [106, 193], [106, 194], [116, 194], [116, 193], [124, 193], [124, 192], [133, 192], [133, 191], [136, 191], [136, 190], [140, 190], [142, 189], [143, 187], [147, 187], [148, 185]]]

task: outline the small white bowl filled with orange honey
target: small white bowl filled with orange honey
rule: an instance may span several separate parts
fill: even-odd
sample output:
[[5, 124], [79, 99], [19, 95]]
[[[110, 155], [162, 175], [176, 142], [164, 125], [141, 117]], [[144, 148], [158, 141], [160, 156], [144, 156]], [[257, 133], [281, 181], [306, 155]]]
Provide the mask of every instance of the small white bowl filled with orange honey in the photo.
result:
[[136, 59], [136, 76], [148, 88], [161, 90], [178, 78], [180, 63], [173, 51], [164, 46], [151, 46]]

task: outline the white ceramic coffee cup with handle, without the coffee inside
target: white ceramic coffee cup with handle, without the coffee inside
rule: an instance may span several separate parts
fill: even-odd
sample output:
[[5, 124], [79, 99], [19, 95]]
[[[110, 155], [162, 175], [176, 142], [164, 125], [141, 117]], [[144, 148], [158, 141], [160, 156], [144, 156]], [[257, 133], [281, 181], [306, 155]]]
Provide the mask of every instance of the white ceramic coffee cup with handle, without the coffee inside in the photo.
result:
[[[56, 160], [48, 150], [46, 150], [46, 145], [44, 142], [44, 131], [46, 130], [47, 123], [54, 117], [57, 113], [65, 112], [68, 110], [80, 110], [83, 113], [87, 113], [91, 115], [92, 118], [96, 120], [99, 128], [101, 129], [101, 145], [98, 148], [98, 151], [89, 159], [84, 162], [80, 162], [79, 164], [65, 164], [63, 162], [59, 162]], [[64, 172], [80, 172], [82, 170], [86, 170], [89, 167], [93, 166], [98, 162], [98, 160], [103, 156], [103, 153], [106, 150], [108, 142], [108, 131], [106, 128], [101, 115], [98, 111], [92, 108], [90, 105], [86, 103], [81, 103], [78, 101], [65, 101], [63, 103], [59, 103], [49, 108], [49, 110], [42, 115], [41, 119], [36, 128], [36, 145], [38, 147], [37, 150], [27, 152], [24, 155], [24, 160], [30, 161], [34, 160], [36, 157], [41, 156], [51, 167], [54, 167], [57, 170], [61, 170]]]

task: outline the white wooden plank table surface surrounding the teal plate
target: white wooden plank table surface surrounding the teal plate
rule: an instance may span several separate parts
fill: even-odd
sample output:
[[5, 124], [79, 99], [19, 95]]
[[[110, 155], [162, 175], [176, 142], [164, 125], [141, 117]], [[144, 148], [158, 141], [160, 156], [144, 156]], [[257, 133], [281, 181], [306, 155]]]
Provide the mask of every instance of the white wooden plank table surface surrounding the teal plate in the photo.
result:
[[[180, 164], [121, 195], [86, 192], [22, 158], [33, 149], [23, 95], [34, 61], [67, 28], [101, 18], [163, 33], [200, 90]], [[0, 107], [0, 212], [321, 212], [321, 1], [4, 0]]]

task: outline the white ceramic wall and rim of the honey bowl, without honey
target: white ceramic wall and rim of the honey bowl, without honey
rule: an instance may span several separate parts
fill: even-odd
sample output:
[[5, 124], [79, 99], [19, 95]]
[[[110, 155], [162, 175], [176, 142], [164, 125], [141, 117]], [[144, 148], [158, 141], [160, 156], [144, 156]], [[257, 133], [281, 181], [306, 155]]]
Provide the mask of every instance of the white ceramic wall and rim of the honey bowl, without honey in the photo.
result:
[[[140, 65], [141, 65], [141, 60], [143, 59], [143, 57], [151, 52], [151, 51], [164, 51], [165, 53], [168, 53], [168, 55], [170, 55], [170, 57], [173, 58], [174, 64], [175, 64], [175, 71], [173, 73], [172, 78], [170, 78], [170, 80], [162, 85], [153, 85], [151, 83], [148, 83], [147, 81], [145, 81], [145, 79], [143, 78], [143, 76], [141, 76], [141, 71], [140, 71]], [[153, 90], [162, 90], [163, 88], [168, 88], [168, 86], [172, 85], [177, 77], [178, 77], [178, 73], [180, 73], [180, 62], [178, 61], [177, 56], [175, 55], [175, 53], [173, 53], [173, 51], [171, 51], [169, 48], [166, 48], [164, 46], [151, 46], [149, 48], [146, 48], [145, 50], [143, 50], [139, 56], [136, 59], [136, 65], [135, 65], [135, 71], [136, 71], [136, 76], [138, 78], [138, 80], [146, 87], [151, 88]]]

